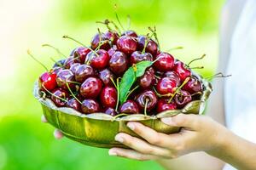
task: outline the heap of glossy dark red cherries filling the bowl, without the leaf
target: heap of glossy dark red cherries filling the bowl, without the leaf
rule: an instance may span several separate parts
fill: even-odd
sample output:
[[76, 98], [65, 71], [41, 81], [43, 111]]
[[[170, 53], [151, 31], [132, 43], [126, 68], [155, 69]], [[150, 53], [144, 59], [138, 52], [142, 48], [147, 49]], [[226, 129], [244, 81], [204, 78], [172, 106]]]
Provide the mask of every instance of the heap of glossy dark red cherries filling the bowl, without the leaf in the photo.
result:
[[[99, 31], [90, 46], [73, 49], [69, 57], [57, 61], [39, 77], [40, 92], [58, 107], [111, 116], [156, 115], [200, 99], [204, 88], [201, 77], [172, 54], [160, 51], [157, 37], [154, 39], [137, 36], [135, 31]], [[143, 60], [154, 64], [137, 78], [121, 104], [118, 80], [129, 67]]]

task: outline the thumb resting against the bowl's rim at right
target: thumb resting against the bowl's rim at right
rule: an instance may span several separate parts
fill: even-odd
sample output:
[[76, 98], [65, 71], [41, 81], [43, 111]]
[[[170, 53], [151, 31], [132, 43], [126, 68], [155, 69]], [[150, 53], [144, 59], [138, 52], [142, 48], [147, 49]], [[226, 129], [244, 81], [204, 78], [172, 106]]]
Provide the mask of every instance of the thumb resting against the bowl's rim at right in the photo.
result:
[[200, 129], [201, 116], [195, 114], [178, 114], [161, 118], [161, 122], [173, 127], [187, 127], [191, 130]]

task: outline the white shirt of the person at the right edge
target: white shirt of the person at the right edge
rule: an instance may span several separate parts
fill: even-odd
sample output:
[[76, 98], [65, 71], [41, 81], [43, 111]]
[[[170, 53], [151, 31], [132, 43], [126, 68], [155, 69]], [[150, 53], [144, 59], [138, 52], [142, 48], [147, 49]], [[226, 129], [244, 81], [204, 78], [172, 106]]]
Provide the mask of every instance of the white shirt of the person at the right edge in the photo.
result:
[[247, 0], [241, 11], [230, 42], [227, 73], [232, 74], [224, 85], [227, 127], [256, 144], [256, 0]]

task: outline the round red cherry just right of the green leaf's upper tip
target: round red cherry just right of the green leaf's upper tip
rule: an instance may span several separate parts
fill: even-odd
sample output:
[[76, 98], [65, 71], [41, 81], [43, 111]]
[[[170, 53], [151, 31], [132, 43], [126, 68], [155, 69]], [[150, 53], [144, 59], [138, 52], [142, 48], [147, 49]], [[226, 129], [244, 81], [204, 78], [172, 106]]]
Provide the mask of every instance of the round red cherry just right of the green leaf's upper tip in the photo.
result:
[[174, 58], [171, 54], [160, 53], [156, 56], [154, 67], [158, 71], [171, 71], [174, 65]]

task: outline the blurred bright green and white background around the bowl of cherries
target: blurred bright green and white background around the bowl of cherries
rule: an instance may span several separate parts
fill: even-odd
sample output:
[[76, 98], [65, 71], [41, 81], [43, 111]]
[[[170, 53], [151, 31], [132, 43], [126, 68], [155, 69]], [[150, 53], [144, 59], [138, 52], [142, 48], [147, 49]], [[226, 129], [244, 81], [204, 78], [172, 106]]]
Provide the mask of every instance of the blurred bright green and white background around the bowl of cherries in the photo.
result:
[[42, 43], [54, 44], [65, 54], [96, 33], [96, 20], [114, 20], [113, 5], [123, 25], [131, 15], [131, 29], [141, 34], [157, 26], [161, 49], [173, 51], [188, 62], [201, 54], [207, 58], [201, 74], [209, 76], [218, 57], [218, 19], [224, 0], [0, 0], [0, 169], [161, 169], [153, 161], [139, 162], [108, 156], [108, 150], [92, 148], [68, 139], [55, 140], [53, 127], [40, 122], [42, 111], [32, 96], [33, 82], [44, 71], [26, 49], [45, 65], [59, 56]]

